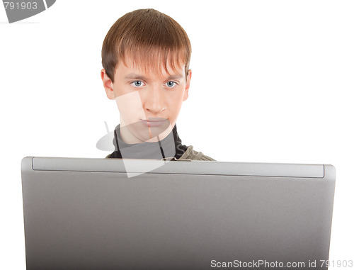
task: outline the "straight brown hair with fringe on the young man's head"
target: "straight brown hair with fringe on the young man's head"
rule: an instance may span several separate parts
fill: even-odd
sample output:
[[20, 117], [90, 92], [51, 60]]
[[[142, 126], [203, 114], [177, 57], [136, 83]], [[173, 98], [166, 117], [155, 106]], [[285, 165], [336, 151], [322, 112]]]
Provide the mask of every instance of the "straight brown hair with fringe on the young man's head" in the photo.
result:
[[155, 9], [137, 9], [111, 26], [103, 41], [102, 65], [112, 81], [118, 61], [127, 65], [127, 56], [147, 73], [161, 74], [161, 62], [166, 72], [167, 62], [173, 72], [185, 64], [187, 77], [191, 53], [187, 33], [173, 18]]

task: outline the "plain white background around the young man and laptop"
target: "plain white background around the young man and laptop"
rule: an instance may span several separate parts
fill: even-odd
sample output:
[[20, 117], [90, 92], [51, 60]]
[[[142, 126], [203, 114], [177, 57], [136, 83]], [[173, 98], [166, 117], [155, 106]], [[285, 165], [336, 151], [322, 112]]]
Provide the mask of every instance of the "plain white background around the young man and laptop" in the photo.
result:
[[144, 8], [176, 19], [192, 43], [183, 144], [218, 161], [333, 164], [330, 259], [354, 260], [353, 1], [58, 0], [11, 24], [0, 6], [0, 269], [25, 269], [21, 159], [109, 153], [96, 142], [119, 114], [101, 46]]

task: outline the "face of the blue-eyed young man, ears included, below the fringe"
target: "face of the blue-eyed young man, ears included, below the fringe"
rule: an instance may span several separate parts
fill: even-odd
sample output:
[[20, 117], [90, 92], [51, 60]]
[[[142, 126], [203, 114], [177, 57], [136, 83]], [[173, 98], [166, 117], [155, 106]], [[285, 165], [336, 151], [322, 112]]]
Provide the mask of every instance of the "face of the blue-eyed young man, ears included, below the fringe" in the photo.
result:
[[101, 72], [108, 98], [118, 104], [122, 140], [130, 144], [162, 140], [171, 132], [182, 102], [188, 98], [191, 70], [186, 79], [184, 65], [173, 72], [168, 63], [169, 72], [161, 66], [160, 75], [145, 73], [129, 58], [126, 64], [118, 64], [113, 84], [104, 69]]

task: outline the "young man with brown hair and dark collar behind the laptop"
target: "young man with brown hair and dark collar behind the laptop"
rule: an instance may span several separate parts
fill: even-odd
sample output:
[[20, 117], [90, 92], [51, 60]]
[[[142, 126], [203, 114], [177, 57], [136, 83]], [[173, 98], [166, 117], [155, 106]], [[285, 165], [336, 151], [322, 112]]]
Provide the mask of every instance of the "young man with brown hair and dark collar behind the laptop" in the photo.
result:
[[188, 99], [190, 40], [164, 13], [138, 9], [116, 21], [103, 41], [101, 79], [120, 125], [109, 158], [215, 160], [182, 145], [176, 120]]

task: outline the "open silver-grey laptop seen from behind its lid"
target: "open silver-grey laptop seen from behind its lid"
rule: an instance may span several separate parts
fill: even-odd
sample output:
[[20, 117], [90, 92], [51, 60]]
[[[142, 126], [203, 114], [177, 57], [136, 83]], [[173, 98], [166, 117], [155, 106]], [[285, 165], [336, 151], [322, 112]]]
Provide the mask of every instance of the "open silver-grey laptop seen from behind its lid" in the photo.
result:
[[22, 159], [36, 269], [327, 269], [324, 164]]

